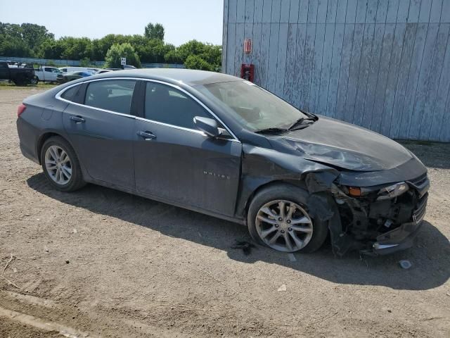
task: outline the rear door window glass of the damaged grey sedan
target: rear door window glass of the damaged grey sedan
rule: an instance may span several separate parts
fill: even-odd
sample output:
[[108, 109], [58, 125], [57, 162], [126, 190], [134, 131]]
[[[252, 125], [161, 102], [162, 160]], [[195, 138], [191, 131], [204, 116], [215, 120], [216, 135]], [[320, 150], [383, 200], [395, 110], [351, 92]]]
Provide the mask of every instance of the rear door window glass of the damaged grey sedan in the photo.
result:
[[104, 80], [90, 82], [86, 89], [86, 106], [129, 114], [135, 80]]

